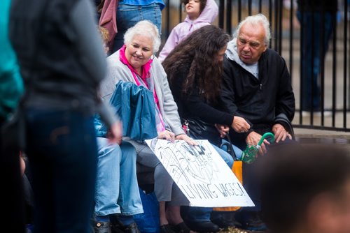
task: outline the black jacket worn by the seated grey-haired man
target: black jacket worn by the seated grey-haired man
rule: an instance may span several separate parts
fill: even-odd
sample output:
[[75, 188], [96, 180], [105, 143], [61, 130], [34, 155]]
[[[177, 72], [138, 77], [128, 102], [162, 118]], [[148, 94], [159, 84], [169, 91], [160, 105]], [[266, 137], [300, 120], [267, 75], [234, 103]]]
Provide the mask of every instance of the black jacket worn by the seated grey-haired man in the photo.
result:
[[267, 49], [258, 68], [259, 79], [225, 57], [221, 98], [226, 111], [244, 117], [251, 123], [251, 130], [271, 128], [279, 114], [285, 114], [291, 122], [295, 98], [286, 62], [274, 50]]

